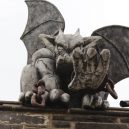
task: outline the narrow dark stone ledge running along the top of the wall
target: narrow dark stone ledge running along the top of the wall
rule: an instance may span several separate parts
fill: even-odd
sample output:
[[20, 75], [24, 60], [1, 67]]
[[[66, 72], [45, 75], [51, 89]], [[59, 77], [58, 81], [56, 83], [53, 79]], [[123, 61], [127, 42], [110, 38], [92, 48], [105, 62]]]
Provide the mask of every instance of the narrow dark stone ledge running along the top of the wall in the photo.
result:
[[0, 101], [0, 110], [3, 111], [32, 111], [32, 112], [46, 112], [46, 113], [68, 113], [68, 114], [87, 114], [87, 115], [104, 115], [104, 116], [129, 116], [129, 108], [114, 108], [110, 107], [108, 109], [81, 109], [81, 108], [70, 108], [70, 109], [51, 109], [51, 108], [38, 108], [22, 106], [20, 102], [17, 101]]

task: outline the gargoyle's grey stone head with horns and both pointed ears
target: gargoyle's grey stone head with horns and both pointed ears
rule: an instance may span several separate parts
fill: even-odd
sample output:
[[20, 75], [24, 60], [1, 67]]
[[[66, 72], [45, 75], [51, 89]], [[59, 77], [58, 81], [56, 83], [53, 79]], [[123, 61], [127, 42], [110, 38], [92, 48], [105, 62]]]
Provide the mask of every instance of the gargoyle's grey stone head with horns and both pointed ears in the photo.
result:
[[74, 49], [80, 48], [83, 51], [84, 48], [94, 47], [97, 41], [101, 39], [100, 36], [82, 37], [79, 29], [75, 34], [64, 34], [60, 29], [56, 36], [40, 34], [39, 38], [44, 46], [54, 53], [56, 69], [63, 71], [71, 69]]

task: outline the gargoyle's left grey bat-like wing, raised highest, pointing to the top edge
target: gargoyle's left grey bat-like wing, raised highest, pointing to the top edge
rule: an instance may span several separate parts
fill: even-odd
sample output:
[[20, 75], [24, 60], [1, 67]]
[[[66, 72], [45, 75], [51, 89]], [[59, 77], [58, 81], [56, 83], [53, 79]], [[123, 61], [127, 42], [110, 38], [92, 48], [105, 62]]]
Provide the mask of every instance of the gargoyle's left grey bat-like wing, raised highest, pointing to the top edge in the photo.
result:
[[64, 30], [65, 22], [58, 9], [44, 0], [26, 0], [28, 6], [28, 22], [21, 39], [27, 51], [28, 61], [31, 63], [32, 54], [43, 47], [38, 35], [41, 33], [55, 35], [59, 29]]

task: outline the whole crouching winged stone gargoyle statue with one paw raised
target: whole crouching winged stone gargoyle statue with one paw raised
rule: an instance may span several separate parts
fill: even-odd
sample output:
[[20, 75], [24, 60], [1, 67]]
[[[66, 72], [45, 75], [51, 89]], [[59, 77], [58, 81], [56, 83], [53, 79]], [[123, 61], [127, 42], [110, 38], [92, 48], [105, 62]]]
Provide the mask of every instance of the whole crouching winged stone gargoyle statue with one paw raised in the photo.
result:
[[28, 64], [19, 100], [41, 107], [107, 108], [108, 94], [118, 98], [115, 83], [129, 76], [129, 29], [103, 27], [90, 37], [82, 37], [79, 29], [64, 34], [64, 19], [54, 5], [44, 0], [26, 3], [29, 17], [21, 39]]

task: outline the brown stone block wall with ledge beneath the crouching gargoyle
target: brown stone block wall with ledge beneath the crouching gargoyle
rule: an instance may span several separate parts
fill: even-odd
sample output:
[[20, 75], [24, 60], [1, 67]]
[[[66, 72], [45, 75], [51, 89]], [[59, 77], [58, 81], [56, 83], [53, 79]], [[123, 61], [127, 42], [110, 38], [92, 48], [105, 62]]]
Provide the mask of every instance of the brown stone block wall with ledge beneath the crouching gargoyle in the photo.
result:
[[3, 104], [0, 129], [129, 129], [129, 109], [39, 109]]

